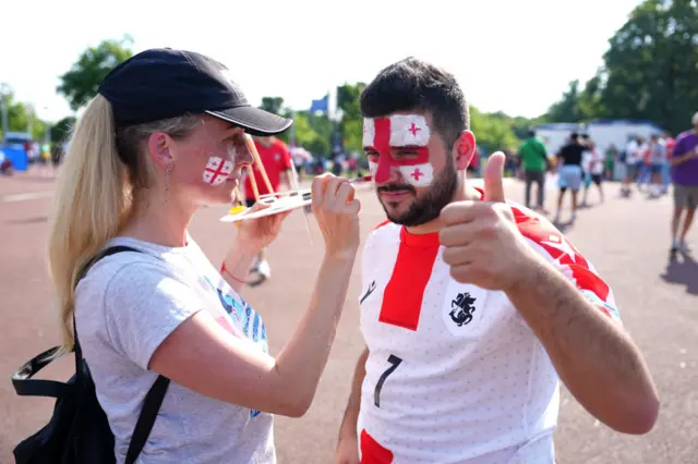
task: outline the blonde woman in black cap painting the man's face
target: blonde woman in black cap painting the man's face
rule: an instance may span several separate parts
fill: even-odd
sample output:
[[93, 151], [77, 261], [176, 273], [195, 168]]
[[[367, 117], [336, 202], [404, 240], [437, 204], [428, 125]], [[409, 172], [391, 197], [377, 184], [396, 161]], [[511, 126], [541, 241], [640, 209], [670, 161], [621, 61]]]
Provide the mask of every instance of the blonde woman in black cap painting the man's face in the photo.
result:
[[[359, 246], [360, 205], [345, 180], [313, 181], [325, 241], [313, 297], [278, 357], [237, 293], [281, 215], [242, 223], [218, 267], [188, 234], [202, 205], [229, 204], [252, 162], [244, 132], [290, 121], [246, 103], [219, 63], [146, 50], [103, 82], [72, 136], [49, 244], [63, 347], [73, 315], [122, 463], [144, 395], [171, 380], [139, 463], [273, 463], [273, 416], [303, 415], [335, 335]], [[261, 207], [257, 207], [261, 208]], [[75, 276], [100, 249], [127, 245]]]

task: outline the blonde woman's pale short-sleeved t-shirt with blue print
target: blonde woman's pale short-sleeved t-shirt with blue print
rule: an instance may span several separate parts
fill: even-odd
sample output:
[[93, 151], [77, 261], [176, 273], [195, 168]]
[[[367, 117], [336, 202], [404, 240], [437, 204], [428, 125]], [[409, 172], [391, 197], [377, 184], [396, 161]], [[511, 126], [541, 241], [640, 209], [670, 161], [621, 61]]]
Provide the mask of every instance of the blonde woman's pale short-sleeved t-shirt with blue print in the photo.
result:
[[[198, 310], [209, 310], [252, 349], [267, 351], [260, 315], [220, 277], [198, 245], [166, 247], [130, 237], [112, 240], [145, 252], [98, 261], [76, 289], [75, 319], [97, 398], [125, 459], [159, 344]], [[141, 464], [276, 462], [273, 416], [225, 403], [170, 382]]]

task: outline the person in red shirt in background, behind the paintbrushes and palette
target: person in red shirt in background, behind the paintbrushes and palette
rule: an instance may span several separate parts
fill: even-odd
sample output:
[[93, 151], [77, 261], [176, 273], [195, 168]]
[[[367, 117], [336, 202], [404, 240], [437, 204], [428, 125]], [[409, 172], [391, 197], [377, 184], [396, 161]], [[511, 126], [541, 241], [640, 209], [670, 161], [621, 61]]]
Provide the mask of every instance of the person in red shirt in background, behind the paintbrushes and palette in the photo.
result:
[[[269, 179], [269, 183], [272, 184], [274, 192], [279, 191], [279, 185], [281, 183], [284, 183], [286, 188], [290, 188], [290, 186], [293, 185], [293, 172], [291, 171], [291, 162], [293, 161], [288, 146], [276, 137], [255, 136], [253, 138], [254, 146], [260, 154], [260, 160], [264, 166], [264, 170], [266, 171], [266, 175]], [[262, 176], [262, 172], [260, 172], [256, 163], [253, 164], [253, 172], [260, 195], [269, 194], [270, 192], [268, 191], [266, 183], [264, 182], [264, 178]], [[281, 181], [281, 173], [285, 174], [284, 181]], [[244, 181], [244, 196], [248, 208], [252, 208], [255, 199], [252, 181], [249, 175], [245, 176]], [[258, 285], [272, 277], [272, 268], [266, 260], [266, 248], [262, 248], [260, 251], [260, 254], [252, 262], [250, 273], [256, 273], [258, 276], [258, 279], [252, 282], [253, 285]]]

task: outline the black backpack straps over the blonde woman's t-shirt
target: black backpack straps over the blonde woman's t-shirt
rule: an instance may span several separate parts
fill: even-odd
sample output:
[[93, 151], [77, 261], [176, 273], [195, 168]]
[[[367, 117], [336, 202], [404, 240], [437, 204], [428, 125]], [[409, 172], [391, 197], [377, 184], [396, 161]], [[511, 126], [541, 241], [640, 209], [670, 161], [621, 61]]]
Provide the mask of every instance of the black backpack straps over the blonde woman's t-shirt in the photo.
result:
[[[80, 273], [77, 281], [83, 279], [87, 274], [89, 268], [101, 258], [122, 252], [143, 253], [140, 249], [124, 245], [117, 245], [105, 248], [89, 262], [87, 262], [87, 265], [85, 265]], [[77, 364], [79, 361], [83, 361], [83, 353], [80, 347], [80, 343], [77, 342], [77, 329], [74, 325], [75, 318], [73, 317], [73, 330], [75, 333], [75, 362]], [[76, 367], [80, 376], [82, 369], [79, 366]], [[143, 451], [143, 447], [145, 447], [145, 442], [147, 441], [151, 431], [153, 430], [153, 426], [155, 425], [155, 420], [157, 419], [157, 414], [160, 411], [160, 406], [163, 405], [165, 393], [167, 393], [167, 388], [169, 387], [169, 384], [170, 379], [168, 379], [167, 377], [158, 376], [157, 380], [155, 381], [155, 383], [153, 383], [153, 387], [151, 387], [151, 390], [148, 390], [147, 394], [145, 395], [143, 408], [141, 410], [139, 420], [135, 424], [135, 429], [133, 430], [133, 435], [131, 436], [131, 443], [129, 444], [129, 451], [127, 452], [125, 464], [133, 464], [136, 457], [139, 457], [139, 455], [141, 454], [141, 451]]]

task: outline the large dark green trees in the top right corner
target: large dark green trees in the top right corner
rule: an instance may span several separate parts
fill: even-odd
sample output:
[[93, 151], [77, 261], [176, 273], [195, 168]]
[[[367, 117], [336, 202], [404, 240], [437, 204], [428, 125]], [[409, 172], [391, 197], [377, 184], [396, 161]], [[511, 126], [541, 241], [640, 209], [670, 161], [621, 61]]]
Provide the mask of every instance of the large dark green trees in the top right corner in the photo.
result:
[[570, 83], [546, 119], [649, 120], [673, 133], [698, 109], [698, 0], [645, 0], [609, 40], [604, 64]]

